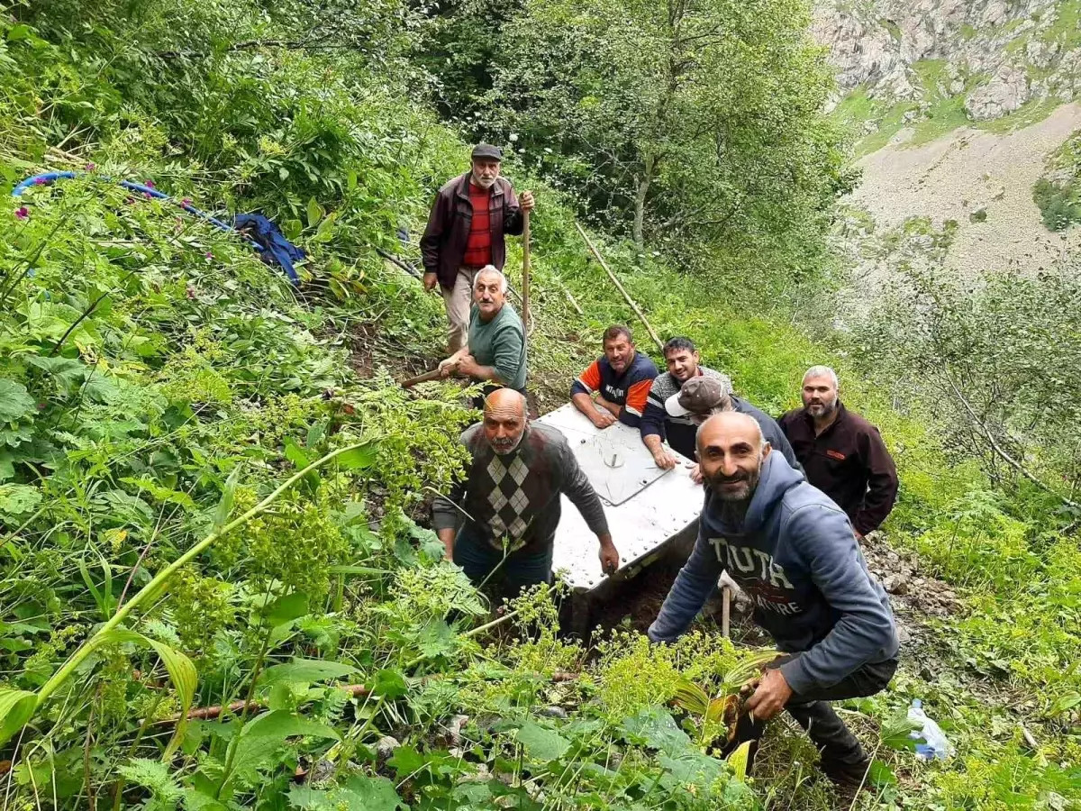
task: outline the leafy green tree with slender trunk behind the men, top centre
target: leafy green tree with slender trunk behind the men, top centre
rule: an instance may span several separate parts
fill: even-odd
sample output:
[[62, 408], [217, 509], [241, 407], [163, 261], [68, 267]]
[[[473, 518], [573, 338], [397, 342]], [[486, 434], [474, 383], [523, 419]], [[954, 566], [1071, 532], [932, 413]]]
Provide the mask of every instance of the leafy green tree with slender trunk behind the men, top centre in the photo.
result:
[[842, 175], [808, 23], [802, 0], [530, 0], [503, 28], [492, 109], [639, 244], [776, 235]]

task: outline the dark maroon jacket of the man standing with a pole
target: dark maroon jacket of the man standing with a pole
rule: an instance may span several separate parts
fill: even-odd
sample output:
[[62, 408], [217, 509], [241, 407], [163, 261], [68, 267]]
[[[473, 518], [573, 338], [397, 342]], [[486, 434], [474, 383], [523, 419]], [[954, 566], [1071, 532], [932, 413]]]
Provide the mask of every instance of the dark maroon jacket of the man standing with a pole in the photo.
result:
[[[428, 216], [428, 226], [421, 237], [421, 255], [424, 271], [436, 274], [439, 283], [450, 290], [462, 266], [472, 223], [472, 203], [469, 202], [469, 175], [466, 172], [449, 181], [436, 195], [436, 202]], [[499, 270], [507, 261], [504, 234], [522, 232], [522, 211], [510, 182], [498, 177], [489, 197], [489, 223], [492, 230], [492, 264]]]

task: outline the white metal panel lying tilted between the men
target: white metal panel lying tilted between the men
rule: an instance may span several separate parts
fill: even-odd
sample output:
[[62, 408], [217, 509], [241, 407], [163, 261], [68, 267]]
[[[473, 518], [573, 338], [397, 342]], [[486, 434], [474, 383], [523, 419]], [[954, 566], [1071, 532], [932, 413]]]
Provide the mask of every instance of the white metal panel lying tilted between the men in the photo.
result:
[[[679, 456], [681, 464], [669, 471], [658, 470], [653, 456], [642, 443], [637, 428], [622, 423], [597, 428], [572, 403], [539, 418], [566, 437], [590, 483], [605, 502], [612, 541], [619, 550], [619, 568], [633, 564], [686, 528], [702, 509], [702, 487], [691, 481], [691, 461]], [[583, 441], [585, 440], [585, 441]], [[622, 464], [611, 467], [602, 454], [620, 455]], [[675, 453], [675, 452], [673, 452]], [[642, 483], [642, 479], [648, 482]], [[625, 495], [622, 501], [609, 498]], [[576, 590], [597, 586], [601, 573], [597, 536], [589, 531], [578, 510], [562, 496], [562, 519], [556, 531], [552, 569]]]

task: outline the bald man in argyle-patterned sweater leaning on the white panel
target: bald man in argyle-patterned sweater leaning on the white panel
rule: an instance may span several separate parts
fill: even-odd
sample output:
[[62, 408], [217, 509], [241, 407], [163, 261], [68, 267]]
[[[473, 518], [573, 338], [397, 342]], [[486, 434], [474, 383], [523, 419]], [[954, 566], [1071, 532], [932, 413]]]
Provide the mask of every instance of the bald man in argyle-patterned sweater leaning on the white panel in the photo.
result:
[[601, 572], [619, 567], [601, 500], [563, 435], [531, 424], [525, 414], [518, 391], [489, 395], [483, 422], [462, 435], [472, 457], [466, 479], [432, 505], [432, 526], [446, 557], [477, 585], [502, 581], [508, 597], [550, 581], [562, 493], [600, 542]]

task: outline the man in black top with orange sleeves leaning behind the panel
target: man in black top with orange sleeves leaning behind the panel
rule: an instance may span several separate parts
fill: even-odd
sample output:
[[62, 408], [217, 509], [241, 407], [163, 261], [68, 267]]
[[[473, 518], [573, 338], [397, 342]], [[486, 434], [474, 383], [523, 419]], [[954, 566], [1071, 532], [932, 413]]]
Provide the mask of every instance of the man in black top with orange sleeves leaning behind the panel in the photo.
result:
[[601, 345], [604, 354], [571, 386], [571, 402], [598, 428], [617, 422], [637, 428], [657, 368], [635, 348], [635, 338], [623, 324], [604, 330]]

